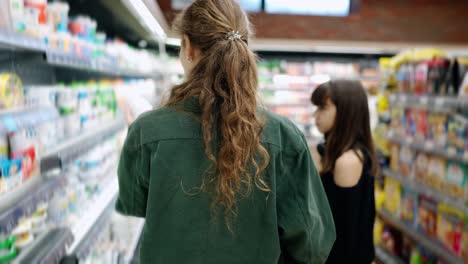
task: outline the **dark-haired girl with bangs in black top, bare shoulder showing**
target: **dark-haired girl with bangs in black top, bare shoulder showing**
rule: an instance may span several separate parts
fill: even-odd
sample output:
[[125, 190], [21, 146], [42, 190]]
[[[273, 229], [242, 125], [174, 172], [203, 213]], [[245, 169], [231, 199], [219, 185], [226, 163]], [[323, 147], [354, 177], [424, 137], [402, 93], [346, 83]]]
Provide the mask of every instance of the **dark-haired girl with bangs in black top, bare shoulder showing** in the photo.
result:
[[360, 82], [330, 81], [317, 87], [311, 101], [317, 106], [316, 125], [325, 135], [314, 159], [337, 237], [327, 263], [371, 263], [378, 163], [366, 93]]

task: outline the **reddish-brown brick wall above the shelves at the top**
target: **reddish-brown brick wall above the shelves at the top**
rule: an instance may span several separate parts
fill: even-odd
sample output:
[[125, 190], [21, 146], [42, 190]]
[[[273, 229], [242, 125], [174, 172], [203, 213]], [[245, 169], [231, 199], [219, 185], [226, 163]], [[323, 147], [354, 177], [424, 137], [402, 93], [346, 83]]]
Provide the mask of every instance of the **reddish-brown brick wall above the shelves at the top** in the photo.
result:
[[[157, 0], [168, 21], [170, 0]], [[357, 14], [252, 14], [258, 38], [468, 44], [468, 0], [361, 0]]]

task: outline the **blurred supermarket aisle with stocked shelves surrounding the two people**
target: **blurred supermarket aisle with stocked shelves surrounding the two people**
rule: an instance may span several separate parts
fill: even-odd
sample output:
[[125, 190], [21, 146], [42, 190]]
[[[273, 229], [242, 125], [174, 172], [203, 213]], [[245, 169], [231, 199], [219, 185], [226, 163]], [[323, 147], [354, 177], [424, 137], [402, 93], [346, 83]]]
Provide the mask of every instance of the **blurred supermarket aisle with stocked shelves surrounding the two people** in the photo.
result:
[[[143, 220], [116, 214], [116, 167], [128, 125], [183, 81], [169, 26], [188, 2], [111, 2], [0, 0], [0, 263], [138, 263]], [[438, 2], [440, 21], [417, 1], [336, 1], [349, 6], [325, 15], [301, 1], [240, 2], [258, 25], [261, 102], [309, 145], [323, 140], [310, 102], [319, 84], [359, 80], [375, 95], [376, 262], [468, 263], [467, 33], [446, 30], [468, 16], [463, 1]], [[404, 21], [442, 33], [396, 35], [406, 8], [421, 14]]]

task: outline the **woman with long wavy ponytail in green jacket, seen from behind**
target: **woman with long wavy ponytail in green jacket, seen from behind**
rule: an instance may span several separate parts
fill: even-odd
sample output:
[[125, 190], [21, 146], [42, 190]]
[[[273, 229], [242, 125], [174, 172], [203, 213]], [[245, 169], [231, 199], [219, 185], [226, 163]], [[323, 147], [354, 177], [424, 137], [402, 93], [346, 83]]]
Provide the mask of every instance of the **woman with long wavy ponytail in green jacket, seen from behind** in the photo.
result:
[[323, 263], [330, 207], [302, 133], [259, 107], [246, 14], [196, 0], [174, 23], [186, 79], [130, 126], [118, 170], [141, 262]]

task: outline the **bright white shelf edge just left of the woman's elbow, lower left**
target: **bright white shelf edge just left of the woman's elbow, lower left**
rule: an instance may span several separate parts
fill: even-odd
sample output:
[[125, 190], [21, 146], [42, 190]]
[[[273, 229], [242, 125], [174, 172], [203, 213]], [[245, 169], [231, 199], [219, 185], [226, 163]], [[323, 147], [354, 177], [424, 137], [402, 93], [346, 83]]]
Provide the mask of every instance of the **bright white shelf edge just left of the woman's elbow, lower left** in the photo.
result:
[[94, 223], [99, 220], [102, 213], [109, 207], [110, 203], [114, 201], [118, 191], [119, 186], [117, 177], [113, 177], [107, 184], [104, 191], [93, 202], [90, 203], [90, 209], [87, 210], [86, 214], [82, 216], [80, 220], [71, 228], [73, 237], [75, 239], [73, 244], [67, 249], [69, 254], [75, 251], [76, 247], [91, 230]]

